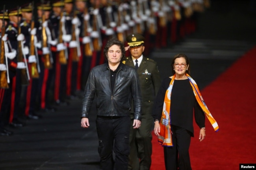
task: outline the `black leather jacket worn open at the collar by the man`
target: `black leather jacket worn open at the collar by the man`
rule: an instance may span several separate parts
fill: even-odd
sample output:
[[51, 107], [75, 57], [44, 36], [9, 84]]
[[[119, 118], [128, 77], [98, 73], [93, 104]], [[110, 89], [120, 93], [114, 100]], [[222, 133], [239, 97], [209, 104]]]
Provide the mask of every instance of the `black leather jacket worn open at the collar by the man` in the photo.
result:
[[141, 89], [136, 70], [120, 63], [113, 95], [111, 94], [110, 69], [108, 63], [94, 67], [88, 77], [82, 101], [82, 116], [89, 112], [96, 95], [96, 109], [99, 116], [129, 116], [134, 102], [134, 119], [141, 121]]

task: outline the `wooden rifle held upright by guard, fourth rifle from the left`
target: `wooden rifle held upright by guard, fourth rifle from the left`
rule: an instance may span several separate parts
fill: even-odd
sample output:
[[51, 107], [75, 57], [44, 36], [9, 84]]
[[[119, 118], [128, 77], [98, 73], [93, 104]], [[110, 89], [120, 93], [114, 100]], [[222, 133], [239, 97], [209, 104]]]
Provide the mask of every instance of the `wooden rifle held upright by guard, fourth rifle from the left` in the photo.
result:
[[[47, 35], [46, 35], [46, 27], [43, 26], [43, 23], [45, 22], [45, 10], [44, 10], [44, 7], [43, 7], [43, 0], [41, 1], [42, 3], [42, 11], [43, 11], [43, 14], [42, 14], [42, 48], [46, 49], [48, 48], [49, 49], [49, 46], [48, 46], [48, 42], [47, 42]], [[43, 50], [44, 51], [44, 50]], [[52, 62], [51, 62], [51, 58], [50, 58], [50, 53], [46, 53], [44, 54], [43, 53], [43, 58], [45, 59], [44, 61], [44, 66], [46, 69], [51, 69], [52, 68]]]

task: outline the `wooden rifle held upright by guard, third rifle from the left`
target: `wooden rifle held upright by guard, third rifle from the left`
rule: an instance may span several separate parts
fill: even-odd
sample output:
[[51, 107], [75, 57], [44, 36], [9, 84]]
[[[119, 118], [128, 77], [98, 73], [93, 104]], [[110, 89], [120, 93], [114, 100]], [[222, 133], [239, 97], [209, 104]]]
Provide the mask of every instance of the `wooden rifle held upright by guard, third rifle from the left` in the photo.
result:
[[[31, 20], [31, 26], [30, 29], [34, 29], [35, 27], [35, 17], [34, 17], [34, 2], [32, 2], [32, 20]], [[40, 66], [39, 66], [39, 59], [38, 54], [35, 53], [35, 35], [30, 35], [30, 55], [35, 56], [36, 62], [31, 63], [31, 77], [32, 78], [39, 78], [40, 73]]]

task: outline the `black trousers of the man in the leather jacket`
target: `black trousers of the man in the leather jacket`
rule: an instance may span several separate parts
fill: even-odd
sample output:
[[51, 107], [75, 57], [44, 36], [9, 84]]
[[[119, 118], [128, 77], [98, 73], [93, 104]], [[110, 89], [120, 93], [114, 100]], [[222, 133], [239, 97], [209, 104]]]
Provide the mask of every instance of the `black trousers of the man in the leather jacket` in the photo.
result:
[[[96, 128], [102, 170], [127, 170], [130, 117], [98, 116]], [[113, 152], [115, 153], [115, 161]]]

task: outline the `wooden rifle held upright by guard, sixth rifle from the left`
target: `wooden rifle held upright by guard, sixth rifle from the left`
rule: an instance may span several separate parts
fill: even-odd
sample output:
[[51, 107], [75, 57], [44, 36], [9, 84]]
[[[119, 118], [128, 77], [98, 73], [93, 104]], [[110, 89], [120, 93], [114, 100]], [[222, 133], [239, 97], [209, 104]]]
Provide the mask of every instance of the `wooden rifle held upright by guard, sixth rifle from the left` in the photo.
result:
[[[73, 0], [73, 19], [77, 18], [76, 16], [76, 5], [74, 3], [75, 1]], [[77, 28], [77, 24], [72, 24], [72, 36], [71, 36], [71, 42], [75, 42], [76, 46], [71, 46], [70, 48], [72, 48], [72, 61], [79, 61], [79, 57], [81, 56], [81, 51], [80, 51], [80, 42], [79, 42], [79, 35], [76, 35], [76, 29]], [[78, 47], [77, 47], [78, 46]]]

